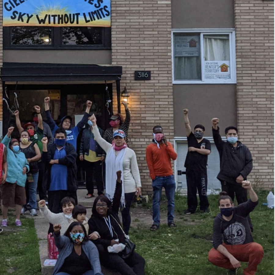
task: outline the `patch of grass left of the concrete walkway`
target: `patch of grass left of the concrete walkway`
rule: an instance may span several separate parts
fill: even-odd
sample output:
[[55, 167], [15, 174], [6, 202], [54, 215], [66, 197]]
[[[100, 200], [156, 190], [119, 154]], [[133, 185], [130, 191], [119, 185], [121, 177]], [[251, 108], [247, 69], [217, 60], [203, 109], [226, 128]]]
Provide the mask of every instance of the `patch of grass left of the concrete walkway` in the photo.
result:
[[15, 226], [15, 216], [9, 212], [8, 222], [0, 234], [0, 274], [41, 275], [34, 220], [21, 217], [22, 226]]

